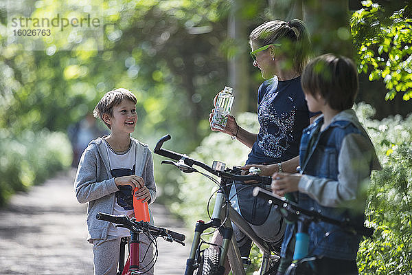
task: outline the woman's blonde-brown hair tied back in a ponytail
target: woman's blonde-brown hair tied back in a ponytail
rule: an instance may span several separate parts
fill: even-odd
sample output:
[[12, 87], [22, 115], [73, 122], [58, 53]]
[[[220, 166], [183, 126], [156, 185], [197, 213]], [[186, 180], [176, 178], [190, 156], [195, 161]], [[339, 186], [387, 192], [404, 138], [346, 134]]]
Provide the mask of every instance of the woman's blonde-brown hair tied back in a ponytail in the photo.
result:
[[289, 22], [273, 20], [263, 23], [251, 32], [249, 43], [257, 43], [260, 47], [281, 43], [282, 52], [290, 56], [293, 68], [299, 72], [304, 69], [310, 58], [312, 45], [308, 29], [303, 21], [293, 19]]

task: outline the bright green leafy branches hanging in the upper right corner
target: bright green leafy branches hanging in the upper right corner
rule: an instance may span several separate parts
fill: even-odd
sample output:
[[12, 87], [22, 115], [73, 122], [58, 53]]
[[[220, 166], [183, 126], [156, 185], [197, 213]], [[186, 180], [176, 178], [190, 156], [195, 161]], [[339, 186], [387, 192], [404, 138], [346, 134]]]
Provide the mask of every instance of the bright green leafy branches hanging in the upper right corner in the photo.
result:
[[386, 100], [398, 93], [404, 100], [412, 97], [412, 6], [399, 7], [400, 2], [383, 6], [363, 1], [350, 22], [358, 70], [369, 74], [370, 81], [383, 79]]

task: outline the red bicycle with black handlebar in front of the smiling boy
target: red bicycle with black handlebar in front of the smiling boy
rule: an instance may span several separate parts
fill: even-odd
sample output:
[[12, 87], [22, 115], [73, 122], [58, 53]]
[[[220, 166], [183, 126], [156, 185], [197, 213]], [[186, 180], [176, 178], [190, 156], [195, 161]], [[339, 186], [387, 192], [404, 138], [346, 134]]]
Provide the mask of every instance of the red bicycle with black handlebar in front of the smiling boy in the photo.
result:
[[117, 275], [144, 274], [144, 272], [141, 272], [139, 270], [150, 270], [155, 265], [157, 259], [157, 250], [152, 261], [150, 261], [151, 266], [140, 266], [139, 234], [149, 234], [150, 236], [152, 236], [152, 242], [155, 243], [156, 247], [157, 245], [155, 239], [159, 236], [163, 237], [165, 241], [176, 241], [176, 243], [185, 245], [185, 243], [183, 243], [183, 241], [185, 241], [185, 235], [173, 232], [165, 228], [159, 228], [157, 226], [150, 225], [148, 222], [136, 221], [135, 218], [129, 218], [126, 215], [116, 216], [112, 214], [98, 212], [98, 214], [96, 214], [96, 219], [100, 219], [102, 221], [109, 221], [111, 223], [115, 223], [116, 226], [128, 228], [128, 230], [130, 230], [130, 250], [128, 259], [126, 261], [126, 265], [124, 265], [125, 246], [128, 243], [128, 238], [122, 238], [119, 251], [119, 272], [117, 272]]

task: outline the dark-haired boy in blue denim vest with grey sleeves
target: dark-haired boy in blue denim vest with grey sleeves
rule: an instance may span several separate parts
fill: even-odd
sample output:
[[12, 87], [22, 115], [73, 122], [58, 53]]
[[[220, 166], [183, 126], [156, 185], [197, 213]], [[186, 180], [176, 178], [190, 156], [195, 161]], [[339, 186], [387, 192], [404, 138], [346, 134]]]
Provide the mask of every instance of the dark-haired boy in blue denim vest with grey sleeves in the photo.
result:
[[[300, 144], [299, 174], [275, 173], [272, 190], [284, 196], [293, 192], [299, 206], [339, 220], [363, 225], [364, 214], [351, 208], [361, 187], [380, 169], [374, 146], [352, 110], [358, 91], [358, 74], [350, 58], [324, 54], [314, 58], [301, 77], [308, 109], [322, 115], [304, 129]], [[286, 228], [282, 258], [293, 250], [295, 225]], [[311, 223], [309, 256], [313, 274], [358, 274], [356, 253], [361, 236], [329, 223]], [[293, 242], [292, 242], [293, 243]], [[279, 267], [278, 274], [284, 274]]]

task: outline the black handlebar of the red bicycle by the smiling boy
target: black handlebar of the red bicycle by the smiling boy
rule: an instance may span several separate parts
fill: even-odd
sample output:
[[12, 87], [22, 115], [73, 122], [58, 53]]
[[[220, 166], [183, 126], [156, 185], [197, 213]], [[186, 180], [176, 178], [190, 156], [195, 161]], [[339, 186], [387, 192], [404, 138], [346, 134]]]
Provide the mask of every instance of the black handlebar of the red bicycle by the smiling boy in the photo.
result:
[[157, 226], [150, 225], [143, 221], [133, 221], [126, 215], [115, 216], [112, 214], [105, 214], [102, 212], [98, 212], [98, 214], [96, 214], [96, 219], [99, 219], [102, 221], [110, 221], [111, 223], [116, 223], [118, 225], [124, 225], [124, 227], [128, 228], [128, 230], [131, 230], [131, 231], [138, 231], [139, 229], [150, 231], [151, 233], [155, 233], [159, 236], [170, 237], [174, 241], [179, 241], [179, 243], [185, 241], [186, 239], [186, 236], [183, 234], [174, 232], [172, 230], [168, 230], [166, 228], [159, 228]]

